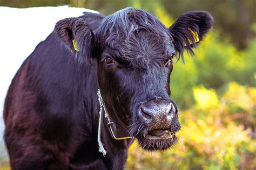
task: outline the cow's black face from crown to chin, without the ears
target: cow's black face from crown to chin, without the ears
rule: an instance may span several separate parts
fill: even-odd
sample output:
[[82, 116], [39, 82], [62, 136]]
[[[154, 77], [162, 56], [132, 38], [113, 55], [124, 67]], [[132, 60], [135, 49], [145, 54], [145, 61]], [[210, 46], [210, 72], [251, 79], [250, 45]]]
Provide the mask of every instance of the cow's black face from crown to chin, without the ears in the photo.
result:
[[126, 9], [105, 20], [97, 40], [98, 81], [112, 119], [122, 121], [147, 150], [170, 147], [180, 129], [170, 99], [176, 55], [170, 31], [144, 11]]

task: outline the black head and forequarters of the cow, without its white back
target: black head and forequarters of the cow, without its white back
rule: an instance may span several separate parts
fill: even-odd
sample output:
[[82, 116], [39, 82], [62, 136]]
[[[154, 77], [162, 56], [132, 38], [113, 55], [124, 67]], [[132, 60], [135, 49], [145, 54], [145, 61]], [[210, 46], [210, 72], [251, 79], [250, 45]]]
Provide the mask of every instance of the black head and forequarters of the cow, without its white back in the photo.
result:
[[149, 151], [173, 146], [172, 58], [193, 53], [212, 24], [209, 13], [190, 11], [167, 29], [134, 8], [60, 20], [5, 100], [12, 169], [123, 169], [134, 138]]

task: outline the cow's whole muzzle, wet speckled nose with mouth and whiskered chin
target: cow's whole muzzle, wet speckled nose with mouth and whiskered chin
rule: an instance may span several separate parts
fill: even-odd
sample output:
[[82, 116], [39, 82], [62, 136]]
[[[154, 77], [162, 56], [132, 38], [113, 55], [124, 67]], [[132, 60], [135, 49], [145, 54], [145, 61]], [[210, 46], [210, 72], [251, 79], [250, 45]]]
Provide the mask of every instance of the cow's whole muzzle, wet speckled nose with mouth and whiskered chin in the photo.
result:
[[180, 124], [174, 102], [154, 97], [140, 105], [138, 117], [142, 126], [133, 134], [145, 150], [165, 150], [177, 143], [175, 133], [180, 130]]

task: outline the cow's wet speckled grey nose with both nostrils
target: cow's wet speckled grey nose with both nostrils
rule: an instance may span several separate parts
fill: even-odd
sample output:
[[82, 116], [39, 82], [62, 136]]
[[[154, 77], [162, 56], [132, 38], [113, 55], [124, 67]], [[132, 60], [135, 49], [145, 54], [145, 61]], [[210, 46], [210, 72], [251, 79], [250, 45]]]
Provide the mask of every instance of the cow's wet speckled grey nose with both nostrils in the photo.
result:
[[169, 129], [175, 112], [173, 103], [155, 97], [142, 105], [139, 117], [150, 129]]

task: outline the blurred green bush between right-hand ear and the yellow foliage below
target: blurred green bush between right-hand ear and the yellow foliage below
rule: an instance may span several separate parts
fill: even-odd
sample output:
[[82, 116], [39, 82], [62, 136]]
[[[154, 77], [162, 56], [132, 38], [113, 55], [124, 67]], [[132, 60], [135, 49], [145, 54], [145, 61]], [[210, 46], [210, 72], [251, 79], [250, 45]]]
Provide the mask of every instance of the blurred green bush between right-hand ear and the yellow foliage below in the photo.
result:
[[218, 33], [212, 31], [201, 41], [195, 57], [185, 56], [185, 65], [174, 63], [172, 97], [187, 108], [194, 103], [192, 87], [200, 84], [216, 89], [220, 95], [231, 81], [255, 86], [256, 38], [249, 44], [247, 49], [239, 51], [229, 42], [219, 40]]

